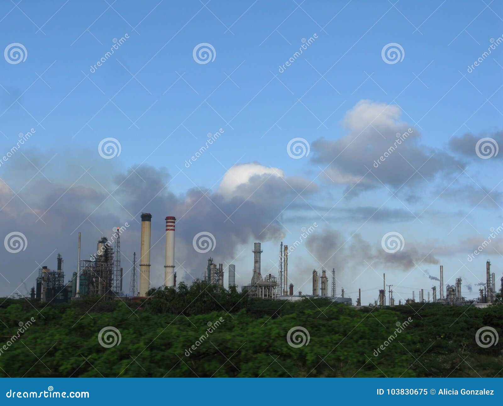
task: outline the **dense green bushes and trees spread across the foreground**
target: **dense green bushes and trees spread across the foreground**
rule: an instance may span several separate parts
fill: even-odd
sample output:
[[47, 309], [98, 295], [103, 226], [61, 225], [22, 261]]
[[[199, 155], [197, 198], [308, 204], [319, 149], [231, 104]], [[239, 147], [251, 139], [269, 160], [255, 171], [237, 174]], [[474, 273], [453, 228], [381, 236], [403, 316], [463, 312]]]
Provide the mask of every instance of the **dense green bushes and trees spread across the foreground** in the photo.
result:
[[[503, 376], [501, 343], [475, 342], [482, 326], [503, 331], [503, 306], [356, 309], [326, 299], [249, 299], [205, 283], [150, 293], [145, 303], [0, 299], [0, 377]], [[107, 326], [120, 331], [119, 345], [100, 345]], [[308, 345], [287, 343], [295, 326], [307, 329]]]

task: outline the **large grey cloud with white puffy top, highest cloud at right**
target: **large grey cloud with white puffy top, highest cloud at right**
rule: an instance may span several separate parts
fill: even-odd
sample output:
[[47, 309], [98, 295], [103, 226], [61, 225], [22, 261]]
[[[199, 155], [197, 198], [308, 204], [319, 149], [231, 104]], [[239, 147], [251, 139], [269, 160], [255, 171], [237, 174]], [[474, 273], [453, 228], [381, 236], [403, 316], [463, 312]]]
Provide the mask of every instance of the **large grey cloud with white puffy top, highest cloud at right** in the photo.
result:
[[408, 189], [464, 167], [447, 152], [422, 145], [420, 132], [400, 121], [400, 115], [395, 105], [358, 102], [343, 120], [346, 136], [312, 143], [313, 162], [326, 166], [329, 180], [346, 185], [353, 194], [383, 185]]

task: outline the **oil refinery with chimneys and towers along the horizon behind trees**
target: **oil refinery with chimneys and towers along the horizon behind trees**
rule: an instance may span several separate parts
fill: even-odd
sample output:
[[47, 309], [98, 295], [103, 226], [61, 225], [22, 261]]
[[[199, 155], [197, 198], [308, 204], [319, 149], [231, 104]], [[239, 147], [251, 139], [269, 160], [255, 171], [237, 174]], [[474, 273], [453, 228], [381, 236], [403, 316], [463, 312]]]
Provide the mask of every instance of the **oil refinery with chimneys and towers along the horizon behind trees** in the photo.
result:
[[[177, 273], [175, 271], [175, 222], [176, 218], [168, 216], [165, 219], [165, 260], [163, 280], [164, 286], [177, 286]], [[110, 240], [102, 237], [98, 240], [96, 253], [90, 259], [80, 259], [80, 233], [78, 233], [77, 244], [77, 266], [76, 271], [72, 273], [71, 279], [65, 281], [63, 272], [63, 257], [57, 254], [56, 269], [49, 269], [42, 266], [38, 270], [35, 287], [31, 289], [30, 296], [40, 299], [42, 302], [68, 302], [81, 297], [98, 297], [102, 300], [113, 299], [141, 299], [146, 298], [150, 286], [150, 232], [152, 215], [150, 213], [141, 214], [141, 237], [140, 237], [140, 259], [139, 259], [139, 281], [136, 269], [136, 252], [133, 253], [133, 261], [130, 275], [129, 292], [123, 291], [123, 268], [121, 267], [121, 248], [120, 237], [124, 227], [115, 227]], [[127, 223], [126, 223], [127, 224]], [[353, 303], [351, 297], [345, 297], [344, 288], [338, 296], [336, 292], [337, 278], [336, 269], [332, 268], [330, 272], [325, 268], [319, 271], [312, 270], [312, 292], [302, 293], [298, 291], [294, 294], [294, 285], [288, 277], [288, 254], [290, 250], [288, 245], [280, 243], [278, 272], [277, 275], [262, 275], [261, 270], [261, 243], [254, 243], [253, 250], [253, 271], [250, 282], [241, 286], [241, 292], [247, 292], [250, 297], [268, 299], [268, 300], [301, 300], [303, 298], [323, 297], [334, 302], [341, 302], [347, 305], [361, 307], [361, 289], [358, 289], [356, 303]], [[432, 295], [427, 290], [427, 298], [424, 297], [424, 289], [412, 291], [412, 297], [398, 300], [398, 305], [410, 303], [441, 303], [444, 305], [476, 305], [485, 307], [496, 301], [495, 274], [491, 273], [491, 263], [486, 261], [485, 283], [479, 289], [478, 297], [468, 299], [461, 294], [461, 277], [456, 278], [455, 284], [446, 285], [444, 288], [444, 266], [440, 265], [440, 278], [430, 277], [439, 281], [439, 291], [437, 286], [433, 286]], [[236, 270], [234, 264], [227, 267], [228, 283], [224, 284], [224, 266], [222, 263], [216, 263], [213, 257], [207, 260], [204, 276], [202, 280], [208, 284], [219, 286], [221, 288], [238, 289], [236, 285]], [[310, 279], [309, 273], [306, 273], [306, 280]], [[310, 283], [308, 283], [308, 286]], [[388, 291], [386, 292], [386, 286]], [[382, 289], [378, 289], [377, 299], [369, 306], [394, 306], [393, 285], [386, 285], [386, 276], [383, 274]], [[503, 278], [501, 278], [501, 288], [503, 288]], [[376, 288], [377, 289], [377, 288]], [[386, 300], [388, 296], [388, 300]]]

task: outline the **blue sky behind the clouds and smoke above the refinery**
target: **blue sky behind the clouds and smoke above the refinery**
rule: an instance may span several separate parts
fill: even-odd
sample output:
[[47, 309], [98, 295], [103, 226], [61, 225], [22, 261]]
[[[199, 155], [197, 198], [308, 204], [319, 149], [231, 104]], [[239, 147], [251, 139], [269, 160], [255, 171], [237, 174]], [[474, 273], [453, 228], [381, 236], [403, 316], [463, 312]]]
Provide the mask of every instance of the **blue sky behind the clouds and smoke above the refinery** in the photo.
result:
[[[19, 132], [25, 133], [30, 128], [36, 130], [29, 144], [23, 146], [26, 157], [17, 153], [0, 167], [0, 178], [9, 185], [2, 189], [5, 201], [9, 201], [4, 206], [3, 200], [4, 209], [0, 211], [6, 220], [4, 234], [18, 229], [29, 234], [32, 227], [43, 233], [47, 232], [44, 227], [54, 228], [49, 222], [48, 225], [40, 221], [35, 223], [37, 217], [30, 213], [31, 209], [25, 215], [27, 208], [21, 198], [31, 207], [37, 204], [37, 200], [41, 203], [41, 199], [34, 196], [51, 194], [52, 201], [50, 197], [44, 197], [41, 207], [33, 210], [40, 215], [68, 188], [79, 185], [87, 188], [88, 197], [91, 188], [97, 189], [96, 193], [103, 192], [103, 188], [113, 190], [116, 174], [127, 172], [131, 166], [140, 165], [141, 168], [148, 165], [155, 170], [164, 167], [174, 176], [167, 189], [187, 204], [186, 197], [182, 196], [188, 189], [212, 188], [212, 192], [217, 193], [229, 168], [236, 163], [256, 162], [257, 165], [279, 168], [286, 177], [301, 179], [300, 190], [307, 184], [317, 187], [305, 199], [295, 195], [288, 201], [279, 199], [278, 210], [272, 204], [267, 205], [274, 206], [274, 209], [264, 214], [261, 222], [267, 226], [273, 221], [282, 228], [285, 243], [289, 240], [290, 244], [293, 243], [301, 227], [317, 221], [323, 227], [322, 233], [337, 230], [346, 239], [354, 237], [357, 232], [364, 240], [378, 246], [382, 235], [398, 231], [404, 236], [407, 249], [417, 249], [419, 259], [424, 256], [421, 253], [428, 254], [434, 249], [431, 255], [440, 261], [432, 260], [413, 270], [410, 267], [386, 268], [377, 260], [372, 265], [375, 272], [362, 262], [361, 271], [367, 268], [368, 278], [355, 281], [354, 268], [343, 270], [344, 266], [339, 262], [342, 259], [337, 259], [336, 254], [324, 266], [330, 269], [332, 266], [341, 267], [340, 283], [347, 292], [356, 291], [365, 284], [369, 289], [379, 286], [377, 275], [384, 270], [396, 284], [407, 275], [411, 280], [401, 282], [402, 286], [424, 287], [426, 290], [431, 288], [431, 281], [425, 280], [422, 273], [418, 274], [420, 268], [429, 269], [436, 275], [439, 263], [444, 264], [446, 273], [449, 270], [454, 274], [461, 267], [459, 275], [472, 284], [479, 282], [476, 278], [483, 279], [486, 256], [491, 258], [494, 268], [499, 268], [501, 257], [497, 253], [499, 245], [495, 244], [502, 243], [497, 240], [494, 247], [488, 249], [490, 255], [484, 252], [480, 256], [483, 259], [478, 259], [480, 263], [476, 266], [468, 264], [468, 269], [460, 263], [461, 259], [467, 264], [467, 255], [487, 238], [490, 227], [497, 227], [502, 222], [503, 204], [498, 194], [501, 193], [499, 155], [487, 160], [475, 155], [476, 159], [472, 159], [460, 155], [460, 150], [458, 154], [449, 150], [448, 144], [453, 139], [461, 140], [466, 133], [477, 139], [492, 137], [497, 141], [501, 137], [503, 46], [492, 50], [473, 72], [467, 72], [468, 66], [487, 51], [491, 38], [501, 37], [503, 10], [500, 4], [452, 0], [421, 3], [403, 0], [397, 3], [213, 0], [182, 4], [107, 1], [83, 4], [55, 0], [42, 4], [24, 0], [18, 6], [12, 2], [0, 5], [0, 17], [3, 17], [0, 22], [1, 45], [21, 43], [27, 50], [24, 62], [0, 63], [0, 85], [3, 88], [0, 88], [0, 130], [5, 134], [0, 137], [0, 145], [7, 152], [17, 142]], [[91, 66], [110, 50], [114, 38], [120, 39], [126, 34], [129, 38], [96, 72], [91, 73]], [[299, 50], [302, 39], [309, 39], [314, 34], [317, 38], [280, 73], [279, 66]], [[200, 43], [214, 47], [212, 62], [200, 64], [194, 60], [193, 49]], [[403, 60], [385, 63], [381, 50], [389, 43], [400, 44]], [[390, 120], [406, 123], [404, 128], [413, 128], [414, 136], [420, 137], [414, 141], [418, 148], [425, 146], [448, 151], [449, 157], [466, 165], [456, 172], [459, 165], [453, 163], [453, 168], [446, 172], [446, 168], [439, 167], [445, 162], [443, 159], [435, 165], [429, 161], [424, 168], [432, 164], [431, 176], [416, 173], [412, 179], [414, 183], [410, 182], [409, 187], [407, 182], [396, 196], [391, 195], [398, 189], [396, 184], [384, 179], [379, 186], [372, 185], [357, 193], [346, 194], [356, 183], [348, 181], [348, 176], [357, 173], [354, 168], [332, 168], [330, 165], [337, 165], [349, 151], [343, 152], [333, 163], [332, 159], [327, 161], [322, 157], [323, 151], [316, 148], [319, 145], [316, 142], [336, 142], [351, 134], [352, 130], [344, 125], [344, 119], [361, 100], [370, 101], [367, 110], [378, 105], [398, 106], [401, 115]], [[364, 117], [356, 117], [354, 125], [360, 120], [365, 122]], [[382, 125], [387, 124], [383, 122]], [[206, 134], [220, 128], [224, 131], [218, 142], [190, 168], [185, 168], [184, 162], [206, 142]], [[378, 132], [374, 134], [376, 137], [379, 137]], [[98, 155], [97, 146], [107, 137], [120, 142], [121, 154], [103, 160]], [[305, 158], [292, 159], [286, 146], [291, 139], [299, 137], [310, 144], [311, 152]], [[333, 146], [337, 150], [336, 144]], [[361, 145], [362, 149], [367, 147], [364, 143]], [[329, 148], [325, 150], [327, 154], [330, 151]], [[415, 155], [413, 150], [409, 153]], [[55, 154], [56, 158], [47, 164]], [[379, 155], [376, 154], [374, 159]], [[332, 158], [336, 159], [336, 155]], [[372, 160], [360, 162], [361, 159], [361, 156], [354, 156], [354, 162], [361, 164], [360, 167], [372, 165]], [[47, 164], [43, 175], [37, 173], [28, 160], [38, 168]], [[407, 162], [401, 164], [410, 169]], [[94, 177], [100, 179], [100, 184], [88, 175], [79, 178], [80, 165], [92, 167], [91, 171], [95, 171]], [[19, 168], [25, 168], [26, 173]], [[414, 168], [417, 169], [415, 165]], [[466, 174], [457, 177], [461, 168]], [[320, 174], [321, 169], [333, 169], [338, 174], [343, 171], [342, 178], [346, 180], [333, 182], [325, 173]], [[32, 176], [35, 178], [23, 187]], [[50, 179], [47, 187], [44, 186], [45, 177]], [[415, 181], [421, 177], [423, 179]], [[77, 178], [79, 180], [72, 186]], [[449, 190], [438, 197], [446, 187]], [[456, 193], [453, 191], [452, 198], [447, 198], [451, 187]], [[478, 200], [469, 201], [468, 197], [475, 197], [481, 188], [489, 192], [494, 187], [489, 197], [481, 196], [481, 204], [477, 205]], [[9, 200], [12, 197], [9, 194], [21, 188], [19, 196]], [[356, 190], [358, 187], [353, 191]], [[144, 205], [140, 204], [138, 210], [146, 206], [144, 211], [148, 211], [147, 204], [154, 195], [145, 193], [140, 196]], [[391, 198], [387, 200], [388, 197]], [[118, 196], [117, 200], [120, 199]], [[213, 200], [209, 205], [215, 209], [218, 199]], [[293, 210], [295, 205], [288, 205], [290, 200], [295, 200], [298, 209]], [[58, 213], [60, 202], [62, 200], [58, 200], [50, 211]], [[317, 207], [329, 209], [336, 202], [337, 207], [330, 211], [336, 216], [328, 222], [320, 218], [324, 213], [321, 209], [316, 210]], [[72, 200], [65, 205], [61, 210], [71, 212]], [[365, 222], [365, 217], [355, 218], [348, 214], [349, 209], [377, 209], [381, 205], [382, 210], [392, 211], [395, 218], [379, 222], [372, 218]], [[89, 210], [86, 207], [86, 210], [91, 212], [96, 206]], [[121, 213], [121, 207], [113, 199], [109, 199], [105, 207], [117, 221], [127, 221], [127, 216]], [[86, 229], [89, 230], [86, 235], [89, 245], [94, 244], [100, 233], [96, 226], [86, 221], [89, 215], [86, 210], [76, 212], [78, 219], [61, 227], [54, 248], [73, 249], [73, 241], [70, 245], [67, 240], [74, 237], [71, 233], [81, 221], [83, 225], [80, 227], [89, 227]], [[171, 208], [166, 207], [166, 212], [169, 210]], [[226, 212], [225, 217], [233, 210]], [[241, 214], [242, 209], [236, 210], [234, 216], [247, 217], [246, 213]], [[225, 210], [218, 208], [217, 214], [220, 212]], [[176, 215], [180, 217], [184, 213], [181, 211]], [[413, 216], [408, 219], [399, 217], [404, 213]], [[161, 222], [163, 216], [171, 214], [155, 213], [154, 219]], [[27, 220], [29, 216], [33, 218]], [[115, 221], [115, 217], [111, 221]], [[281, 223], [277, 223], [278, 220]], [[210, 226], [204, 217], [199, 224], [199, 231]], [[103, 227], [111, 230], [112, 226]], [[216, 226], [212, 224], [212, 227]], [[218, 234], [218, 230], [207, 231]], [[212, 254], [215, 257], [225, 255], [220, 261], [231, 261], [235, 258], [232, 255], [245, 249], [235, 260], [236, 270], [239, 265], [242, 269], [238, 281], [245, 283], [251, 269], [251, 253], [248, 251], [251, 243], [262, 236], [250, 233], [249, 241], [238, 239], [239, 243], [225, 254], [218, 253], [218, 246]], [[269, 262], [276, 261], [280, 240], [276, 237], [263, 240], [264, 255], [268, 255]], [[470, 240], [473, 247], [463, 243], [466, 240]], [[480, 242], [477, 244], [477, 241]], [[139, 251], [139, 240], [131, 238], [129, 244], [128, 250]], [[163, 241], [159, 243], [162, 244]], [[42, 248], [37, 243], [29, 246], [38, 249], [34, 247], [32, 252], [27, 249], [16, 255], [9, 254], [12, 266], [27, 269], [21, 272], [23, 279], [31, 273], [32, 269], [28, 268], [36, 266], [34, 261], [39, 258], [37, 263], [40, 263], [53, 249], [49, 246]], [[309, 253], [304, 248], [308, 247], [299, 250], [298, 269], [292, 274], [296, 286], [302, 286], [309, 278], [310, 269], [318, 268], [320, 262], [324, 262], [313, 260], [314, 251]], [[127, 255], [132, 256], [130, 252]], [[68, 263], [75, 262], [72, 256], [75, 256], [73, 251], [66, 254]], [[162, 267], [162, 260], [159, 266]], [[198, 265], [191, 266], [196, 268]], [[200, 268], [203, 266], [204, 258]], [[271, 272], [276, 273], [276, 270]], [[497, 271], [496, 275], [499, 274]], [[6, 275], [6, 278], [12, 279], [12, 284], [17, 286], [17, 276], [9, 278]], [[32, 279], [28, 282], [31, 283]], [[309, 290], [309, 283], [303, 290]], [[370, 292], [368, 297], [364, 296], [363, 302], [373, 300], [374, 296], [377, 293]]]

